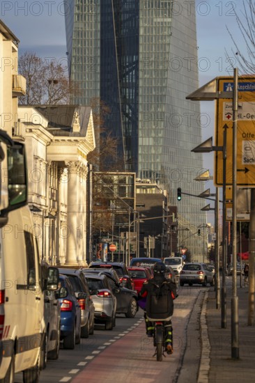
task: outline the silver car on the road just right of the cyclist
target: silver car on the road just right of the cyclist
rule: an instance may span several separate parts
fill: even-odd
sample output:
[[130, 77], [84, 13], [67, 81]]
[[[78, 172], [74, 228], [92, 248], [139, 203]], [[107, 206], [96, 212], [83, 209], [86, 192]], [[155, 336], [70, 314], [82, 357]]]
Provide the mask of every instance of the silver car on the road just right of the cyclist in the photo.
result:
[[206, 263], [186, 263], [180, 272], [180, 286], [188, 283], [192, 286], [194, 283], [199, 283], [203, 286], [214, 286], [213, 273], [210, 272]]

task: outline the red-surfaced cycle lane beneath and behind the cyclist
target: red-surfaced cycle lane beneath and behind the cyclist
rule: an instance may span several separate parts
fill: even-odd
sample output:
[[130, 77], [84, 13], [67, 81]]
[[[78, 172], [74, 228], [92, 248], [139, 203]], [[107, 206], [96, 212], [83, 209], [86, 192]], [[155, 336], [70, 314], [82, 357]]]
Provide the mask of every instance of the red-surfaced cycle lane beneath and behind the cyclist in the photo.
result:
[[[181, 347], [180, 347], [181, 348]], [[107, 382], [172, 382], [180, 350], [157, 361], [153, 339], [145, 334], [142, 322], [136, 329], [100, 352], [72, 383]]]

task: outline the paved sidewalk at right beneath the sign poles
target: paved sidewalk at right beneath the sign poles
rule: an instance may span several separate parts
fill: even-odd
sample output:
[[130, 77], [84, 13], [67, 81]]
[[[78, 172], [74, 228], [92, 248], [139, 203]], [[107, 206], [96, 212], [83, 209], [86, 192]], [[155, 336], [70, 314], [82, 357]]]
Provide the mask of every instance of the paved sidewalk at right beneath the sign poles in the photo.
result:
[[[239, 357], [231, 358], [232, 281], [226, 281], [226, 329], [222, 329], [221, 307], [216, 309], [215, 291], [206, 293], [201, 311], [203, 343], [198, 383], [253, 382], [255, 379], [255, 327], [247, 326], [248, 288], [238, 279]], [[209, 341], [210, 342], [209, 342]]]

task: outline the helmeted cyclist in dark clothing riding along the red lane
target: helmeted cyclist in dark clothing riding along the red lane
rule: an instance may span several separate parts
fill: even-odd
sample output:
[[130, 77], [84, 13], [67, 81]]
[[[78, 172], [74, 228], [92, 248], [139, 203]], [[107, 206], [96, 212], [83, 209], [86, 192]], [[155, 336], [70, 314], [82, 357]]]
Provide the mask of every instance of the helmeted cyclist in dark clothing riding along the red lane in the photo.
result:
[[167, 267], [162, 262], [153, 266], [153, 278], [144, 283], [139, 292], [138, 299], [146, 297], [144, 318], [146, 321], [146, 333], [153, 336], [155, 320], [164, 321], [165, 350], [167, 354], [173, 353], [173, 328], [171, 316], [173, 315], [173, 299], [176, 294], [176, 283], [165, 277]]

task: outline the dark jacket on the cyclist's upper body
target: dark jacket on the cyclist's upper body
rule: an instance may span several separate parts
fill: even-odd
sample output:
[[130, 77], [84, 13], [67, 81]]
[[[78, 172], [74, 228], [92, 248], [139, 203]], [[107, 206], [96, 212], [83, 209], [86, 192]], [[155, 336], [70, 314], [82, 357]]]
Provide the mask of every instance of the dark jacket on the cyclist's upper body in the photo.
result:
[[164, 320], [173, 315], [176, 284], [168, 279], [150, 279], [142, 286], [139, 296], [146, 297], [148, 318]]

